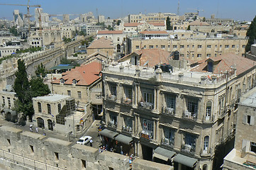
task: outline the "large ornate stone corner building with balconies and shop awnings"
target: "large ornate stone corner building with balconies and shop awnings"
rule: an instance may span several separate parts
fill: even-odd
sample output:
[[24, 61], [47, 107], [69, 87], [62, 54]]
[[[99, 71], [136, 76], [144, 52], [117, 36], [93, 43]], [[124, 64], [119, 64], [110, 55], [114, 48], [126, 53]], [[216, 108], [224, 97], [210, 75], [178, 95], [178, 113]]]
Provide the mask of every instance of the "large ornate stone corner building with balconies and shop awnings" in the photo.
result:
[[104, 64], [101, 135], [108, 145], [174, 169], [216, 169], [216, 147], [234, 137], [235, 101], [255, 86], [255, 64], [229, 54], [186, 70], [179, 55], [170, 60], [163, 52], [144, 49]]

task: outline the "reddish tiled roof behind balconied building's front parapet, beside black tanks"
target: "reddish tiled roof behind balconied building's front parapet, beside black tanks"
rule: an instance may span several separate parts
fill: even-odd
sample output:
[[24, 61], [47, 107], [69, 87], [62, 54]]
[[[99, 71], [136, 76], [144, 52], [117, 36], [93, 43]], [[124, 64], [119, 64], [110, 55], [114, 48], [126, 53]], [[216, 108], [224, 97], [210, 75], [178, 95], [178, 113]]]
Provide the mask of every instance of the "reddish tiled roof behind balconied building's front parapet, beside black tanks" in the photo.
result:
[[[130, 53], [132, 55], [135, 53], [136, 55], [140, 55], [140, 66], [143, 66], [145, 63], [148, 63], [148, 67], [154, 67], [156, 64], [164, 64], [168, 63], [170, 52], [167, 52], [162, 49], [142, 49], [136, 50], [135, 52]], [[118, 60], [118, 62], [123, 62], [124, 60], [128, 60], [130, 55], [126, 55], [125, 57]]]

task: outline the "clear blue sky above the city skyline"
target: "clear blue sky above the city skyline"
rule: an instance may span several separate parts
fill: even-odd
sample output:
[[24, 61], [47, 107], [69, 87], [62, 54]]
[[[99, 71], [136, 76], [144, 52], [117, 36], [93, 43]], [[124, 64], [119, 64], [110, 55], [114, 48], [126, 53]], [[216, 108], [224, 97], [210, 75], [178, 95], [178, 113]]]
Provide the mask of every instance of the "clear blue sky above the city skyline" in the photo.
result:
[[[239, 21], [252, 21], [256, 15], [256, 0], [30, 0], [30, 5], [40, 4], [43, 12], [49, 14], [81, 14], [89, 11], [105, 18], [120, 18], [138, 13], [176, 13], [179, 2], [179, 15], [196, 12], [199, 16], [211, 18], [233, 18]], [[0, 0], [0, 4], [28, 4], [28, 0]], [[0, 18], [13, 19], [13, 10], [26, 12], [26, 6], [0, 5]], [[33, 15], [35, 7], [30, 7]], [[203, 10], [203, 11], [202, 11]], [[33, 19], [32, 19], [33, 20]]]

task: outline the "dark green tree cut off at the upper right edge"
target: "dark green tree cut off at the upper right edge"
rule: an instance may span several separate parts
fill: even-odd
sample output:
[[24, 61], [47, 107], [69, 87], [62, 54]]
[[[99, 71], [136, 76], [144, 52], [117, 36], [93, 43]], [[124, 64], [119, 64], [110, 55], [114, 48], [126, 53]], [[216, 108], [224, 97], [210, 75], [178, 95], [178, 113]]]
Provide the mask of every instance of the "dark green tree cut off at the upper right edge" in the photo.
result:
[[250, 46], [255, 42], [256, 39], [256, 16], [250, 24], [249, 29], [247, 30], [246, 36], [249, 37], [247, 44], [245, 46], [245, 52], [250, 51]]

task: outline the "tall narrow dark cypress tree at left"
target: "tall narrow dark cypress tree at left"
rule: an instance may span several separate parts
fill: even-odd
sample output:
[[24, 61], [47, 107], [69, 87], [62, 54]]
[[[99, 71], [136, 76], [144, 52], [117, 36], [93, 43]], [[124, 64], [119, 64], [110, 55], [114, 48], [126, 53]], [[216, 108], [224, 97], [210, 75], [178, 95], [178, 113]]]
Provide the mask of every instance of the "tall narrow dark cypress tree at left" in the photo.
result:
[[24, 113], [22, 119], [25, 120], [28, 115], [32, 118], [33, 103], [30, 93], [30, 84], [28, 81], [28, 74], [23, 60], [18, 60], [18, 71], [15, 73], [16, 79], [14, 81], [13, 89], [16, 92], [18, 100], [16, 100], [14, 108], [17, 113]]

